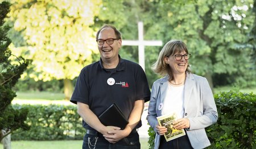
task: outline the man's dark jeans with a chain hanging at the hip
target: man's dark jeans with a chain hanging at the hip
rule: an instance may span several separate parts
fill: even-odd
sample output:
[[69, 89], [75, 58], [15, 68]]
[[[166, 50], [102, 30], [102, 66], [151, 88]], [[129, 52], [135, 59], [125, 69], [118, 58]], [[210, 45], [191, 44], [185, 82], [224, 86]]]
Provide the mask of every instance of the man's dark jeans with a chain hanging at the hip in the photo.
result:
[[93, 149], [94, 147], [95, 149], [140, 149], [141, 143], [139, 143], [139, 134], [137, 132], [131, 133], [117, 143], [109, 143], [102, 135], [85, 134], [82, 149]]

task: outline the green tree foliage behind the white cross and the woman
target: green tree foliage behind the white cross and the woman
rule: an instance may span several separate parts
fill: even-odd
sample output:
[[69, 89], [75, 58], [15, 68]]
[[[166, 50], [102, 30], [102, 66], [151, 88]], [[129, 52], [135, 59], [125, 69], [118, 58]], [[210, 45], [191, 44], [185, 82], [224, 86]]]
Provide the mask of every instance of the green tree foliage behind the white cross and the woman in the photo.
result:
[[[192, 71], [207, 77], [211, 86], [255, 85], [255, 81], [249, 84], [255, 76], [255, 68], [251, 63], [253, 56], [250, 56], [253, 42], [248, 42], [249, 35], [255, 36], [254, 3], [213, 0], [105, 1], [101, 11], [106, 13], [100, 13], [98, 18], [101, 22], [108, 21], [119, 26], [124, 37], [133, 34], [129, 36], [131, 39], [137, 39], [137, 22], [141, 20], [144, 23], [144, 39], [158, 39], [164, 43], [171, 39], [183, 40], [192, 53]], [[119, 8], [118, 11], [115, 7]], [[129, 23], [123, 26], [127, 20]], [[123, 47], [131, 52], [129, 48]], [[150, 70], [159, 53], [156, 49], [160, 50], [158, 47], [146, 47], [145, 50], [146, 74], [150, 84], [158, 77]]]

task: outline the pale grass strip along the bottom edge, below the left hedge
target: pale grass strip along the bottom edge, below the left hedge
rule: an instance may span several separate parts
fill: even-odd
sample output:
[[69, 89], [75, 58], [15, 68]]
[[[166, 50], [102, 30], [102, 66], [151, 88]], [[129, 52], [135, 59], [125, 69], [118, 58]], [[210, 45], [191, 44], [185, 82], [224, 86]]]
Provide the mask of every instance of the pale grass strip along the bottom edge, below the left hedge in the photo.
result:
[[[3, 144], [0, 143], [0, 148], [3, 148]], [[54, 140], [54, 141], [34, 141], [34, 140], [20, 140], [20, 141], [12, 141], [11, 148], [13, 149], [73, 149], [73, 148], [82, 148], [82, 140]], [[146, 149], [147, 146], [147, 138], [141, 139], [141, 149]]]

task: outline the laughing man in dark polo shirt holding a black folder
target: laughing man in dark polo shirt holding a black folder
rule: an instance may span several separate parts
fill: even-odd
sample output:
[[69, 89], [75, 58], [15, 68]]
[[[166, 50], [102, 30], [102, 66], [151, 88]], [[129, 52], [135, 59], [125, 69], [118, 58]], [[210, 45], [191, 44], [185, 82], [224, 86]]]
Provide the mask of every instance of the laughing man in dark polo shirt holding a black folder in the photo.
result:
[[[101, 27], [96, 41], [100, 61], [82, 69], [71, 97], [87, 130], [82, 148], [141, 148], [136, 129], [142, 125], [144, 102], [150, 98], [146, 75], [138, 64], [119, 56], [122, 38], [115, 27]], [[104, 126], [98, 119], [113, 103], [129, 121], [123, 130]]]

